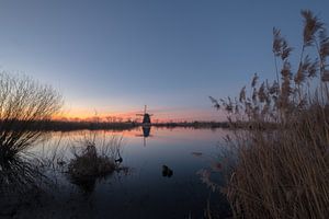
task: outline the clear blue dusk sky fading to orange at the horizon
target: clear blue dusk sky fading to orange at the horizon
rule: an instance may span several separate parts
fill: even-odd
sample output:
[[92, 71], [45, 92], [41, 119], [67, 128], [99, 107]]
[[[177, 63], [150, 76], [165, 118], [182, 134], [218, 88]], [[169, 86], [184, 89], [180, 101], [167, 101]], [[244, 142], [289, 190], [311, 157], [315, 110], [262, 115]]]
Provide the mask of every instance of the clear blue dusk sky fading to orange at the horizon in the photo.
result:
[[224, 120], [208, 96], [274, 80], [272, 28], [298, 54], [303, 9], [329, 24], [328, 0], [1, 0], [0, 70], [52, 84], [67, 117]]

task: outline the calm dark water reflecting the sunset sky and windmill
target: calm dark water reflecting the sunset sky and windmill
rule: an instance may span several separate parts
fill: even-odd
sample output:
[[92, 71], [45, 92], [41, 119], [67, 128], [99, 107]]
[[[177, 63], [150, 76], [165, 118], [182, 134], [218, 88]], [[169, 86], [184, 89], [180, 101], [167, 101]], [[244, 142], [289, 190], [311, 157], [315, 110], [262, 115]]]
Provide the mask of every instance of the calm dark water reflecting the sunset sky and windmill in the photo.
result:
[[[154, 127], [121, 132], [52, 132], [48, 141], [31, 152], [52, 158], [56, 151], [60, 160], [69, 161], [73, 158], [71, 148], [83, 136], [94, 135], [99, 142], [112, 136], [123, 137], [120, 153], [123, 170], [84, 185], [71, 183], [63, 171], [65, 168], [46, 171], [56, 186], [45, 188], [47, 195], [38, 197], [35, 204], [20, 207], [16, 217], [204, 218], [207, 212], [228, 216], [229, 207], [217, 187], [225, 182], [220, 154], [227, 150], [222, 142], [227, 134], [225, 129]], [[163, 165], [171, 173], [163, 172]]]

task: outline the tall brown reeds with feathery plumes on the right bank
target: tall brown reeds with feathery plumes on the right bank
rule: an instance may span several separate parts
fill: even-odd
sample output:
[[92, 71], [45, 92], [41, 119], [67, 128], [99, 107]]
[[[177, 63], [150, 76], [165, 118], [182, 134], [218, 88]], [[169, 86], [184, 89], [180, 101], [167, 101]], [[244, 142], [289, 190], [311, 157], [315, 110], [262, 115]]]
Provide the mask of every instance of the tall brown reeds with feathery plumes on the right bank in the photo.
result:
[[329, 37], [310, 11], [302, 16], [295, 72], [293, 49], [273, 28], [276, 81], [259, 83], [256, 74], [239, 97], [212, 99], [232, 127], [249, 129], [230, 141], [238, 159], [226, 194], [235, 218], [329, 217]]

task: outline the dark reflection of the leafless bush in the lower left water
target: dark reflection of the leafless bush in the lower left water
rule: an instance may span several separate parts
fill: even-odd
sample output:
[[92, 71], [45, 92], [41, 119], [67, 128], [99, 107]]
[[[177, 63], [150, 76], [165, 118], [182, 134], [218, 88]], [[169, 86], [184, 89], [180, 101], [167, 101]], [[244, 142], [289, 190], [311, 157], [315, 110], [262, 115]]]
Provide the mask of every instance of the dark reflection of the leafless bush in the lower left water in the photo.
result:
[[37, 203], [45, 186], [53, 185], [36, 158], [15, 155], [0, 162], [0, 217], [13, 217], [23, 205]]

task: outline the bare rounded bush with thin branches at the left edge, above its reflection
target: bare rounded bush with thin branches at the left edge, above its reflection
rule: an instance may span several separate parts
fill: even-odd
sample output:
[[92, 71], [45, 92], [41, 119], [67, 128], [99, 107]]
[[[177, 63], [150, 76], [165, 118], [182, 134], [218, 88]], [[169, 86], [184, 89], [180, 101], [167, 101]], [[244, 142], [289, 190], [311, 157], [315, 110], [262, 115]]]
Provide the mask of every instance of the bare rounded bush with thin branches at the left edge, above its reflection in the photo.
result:
[[42, 126], [60, 111], [61, 95], [27, 76], [0, 72], [0, 161], [43, 136]]

